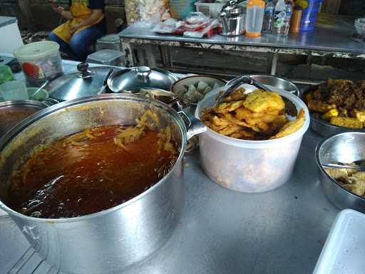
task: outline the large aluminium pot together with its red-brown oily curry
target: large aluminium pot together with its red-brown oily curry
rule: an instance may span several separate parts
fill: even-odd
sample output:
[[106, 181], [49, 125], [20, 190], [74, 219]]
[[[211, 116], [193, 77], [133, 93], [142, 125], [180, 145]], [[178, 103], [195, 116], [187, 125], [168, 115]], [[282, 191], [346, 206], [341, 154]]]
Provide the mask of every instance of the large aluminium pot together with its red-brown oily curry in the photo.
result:
[[0, 141], [0, 208], [62, 272], [115, 273], [148, 258], [179, 219], [187, 139], [206, 130], [184, 117], [125, 94], [39, 111]]

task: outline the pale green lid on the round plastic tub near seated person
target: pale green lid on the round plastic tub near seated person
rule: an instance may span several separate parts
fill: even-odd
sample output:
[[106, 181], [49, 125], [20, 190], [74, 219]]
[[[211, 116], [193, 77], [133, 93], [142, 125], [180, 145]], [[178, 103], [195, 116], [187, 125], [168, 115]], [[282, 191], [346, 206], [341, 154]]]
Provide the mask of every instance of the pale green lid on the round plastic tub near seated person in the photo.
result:
[[58, 52], [60, 46], [53, 41], [39, 41], [21, 46], [14, 51], [17, 59], [42, 59], [54, 52]]

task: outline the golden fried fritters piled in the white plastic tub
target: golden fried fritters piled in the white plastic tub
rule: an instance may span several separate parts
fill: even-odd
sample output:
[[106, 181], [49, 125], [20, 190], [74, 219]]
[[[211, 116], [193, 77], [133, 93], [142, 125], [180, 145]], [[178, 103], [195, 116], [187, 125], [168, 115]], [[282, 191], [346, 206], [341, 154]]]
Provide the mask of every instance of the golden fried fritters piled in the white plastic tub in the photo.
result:
[[281, 138], [302, 128], [304, 110], [288, 121], [282, 97], [272, 91], [257, 89], [245, 94], [238, 88], [218, 106], [202, 111], [202, 121], [213, 131], [245, 140]]

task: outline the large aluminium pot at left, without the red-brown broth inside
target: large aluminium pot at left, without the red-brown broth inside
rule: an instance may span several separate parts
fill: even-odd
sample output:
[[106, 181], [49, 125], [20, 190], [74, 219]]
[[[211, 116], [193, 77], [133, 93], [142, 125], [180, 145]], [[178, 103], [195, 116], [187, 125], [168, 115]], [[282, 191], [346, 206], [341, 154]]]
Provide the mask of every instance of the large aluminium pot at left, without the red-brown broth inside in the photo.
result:
[[[6, 206], [11, 171], [36, 147], [94, 126], [133, 125], [147, 109], [158, 114], [160, 126], [172, 127], [180, 151], [175, 166], [155, 186], [114, 208], [77, 218], [32, 218]], [[183, 152], [187, 139], [206, 130], [199, 121], [190, 121], [187, 129], [185, 120], [165, 103], [125, 94], [81, 98], [39, 111], [0, 141], [0, 208], [56, 270], [123, 270], [158, 250], [178, 222], [183, 201]]]

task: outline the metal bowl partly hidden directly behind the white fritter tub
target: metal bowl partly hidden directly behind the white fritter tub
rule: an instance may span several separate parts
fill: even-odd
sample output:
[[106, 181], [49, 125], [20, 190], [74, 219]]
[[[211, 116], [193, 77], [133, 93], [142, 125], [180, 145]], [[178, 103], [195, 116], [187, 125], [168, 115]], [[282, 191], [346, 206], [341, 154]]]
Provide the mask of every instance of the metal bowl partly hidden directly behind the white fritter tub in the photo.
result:
[[[250, 77], [256, 81], [259, 81], [260, 83], [263, 83], [264, 85], [280, 88], [296, 96], [300, 96], [299, 88], [295, 85], [295, 83], [288, 80], [287, 78], [272, 75], [250, 75]], [[227, 86], [230, 85], [235, 79], [236, 78], [229, 81]]]

